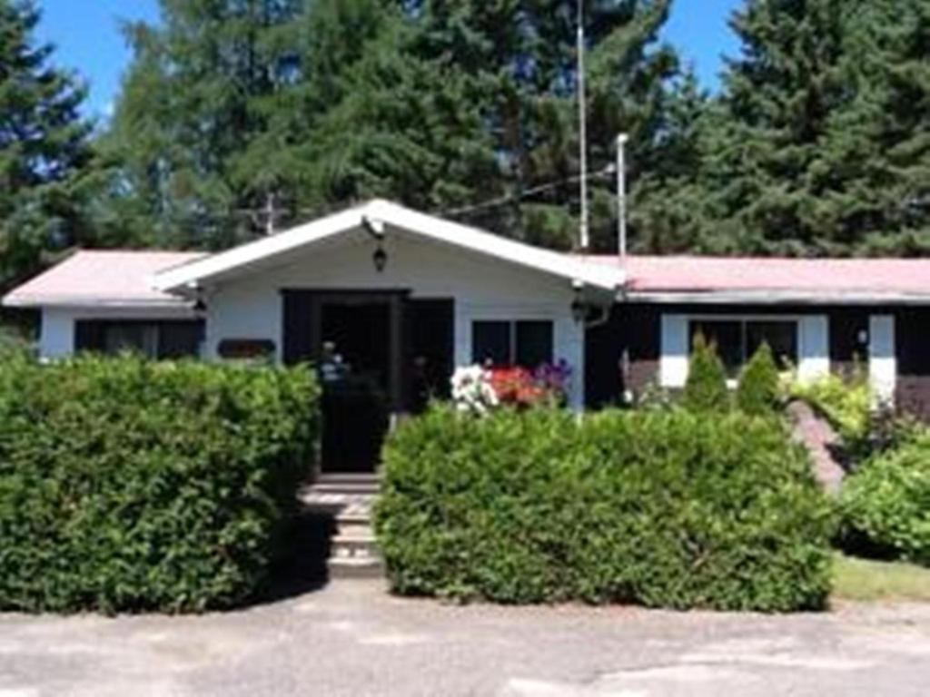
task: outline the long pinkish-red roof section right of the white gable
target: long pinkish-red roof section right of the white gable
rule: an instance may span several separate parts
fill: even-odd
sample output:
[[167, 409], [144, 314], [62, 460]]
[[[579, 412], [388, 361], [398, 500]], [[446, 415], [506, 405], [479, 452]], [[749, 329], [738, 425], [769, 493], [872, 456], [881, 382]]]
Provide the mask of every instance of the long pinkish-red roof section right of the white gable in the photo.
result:
[[[618, 267], [617, 256], [590, 256]], [[628, 256], [631, 297], [717, 302], [926, 302], [930, 259]]]

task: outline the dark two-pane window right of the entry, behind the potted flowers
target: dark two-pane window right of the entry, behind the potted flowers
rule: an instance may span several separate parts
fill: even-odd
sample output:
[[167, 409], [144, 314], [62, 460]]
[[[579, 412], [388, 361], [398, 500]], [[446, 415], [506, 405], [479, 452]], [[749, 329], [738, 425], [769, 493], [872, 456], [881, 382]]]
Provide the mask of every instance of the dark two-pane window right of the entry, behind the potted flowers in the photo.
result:
[[472, 361], [537, 368], [552, 362], [552, 322], [493, 321], [472, 323]]

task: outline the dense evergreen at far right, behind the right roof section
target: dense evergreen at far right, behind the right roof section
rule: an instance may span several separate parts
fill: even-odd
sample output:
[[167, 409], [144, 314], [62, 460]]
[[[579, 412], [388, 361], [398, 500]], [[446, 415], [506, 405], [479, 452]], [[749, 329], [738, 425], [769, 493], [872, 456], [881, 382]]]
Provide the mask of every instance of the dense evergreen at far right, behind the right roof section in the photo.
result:
[[928, 13], [926, 0], [747, 0], [700, 166], [667, 191], [695, 251], [927, 248]]

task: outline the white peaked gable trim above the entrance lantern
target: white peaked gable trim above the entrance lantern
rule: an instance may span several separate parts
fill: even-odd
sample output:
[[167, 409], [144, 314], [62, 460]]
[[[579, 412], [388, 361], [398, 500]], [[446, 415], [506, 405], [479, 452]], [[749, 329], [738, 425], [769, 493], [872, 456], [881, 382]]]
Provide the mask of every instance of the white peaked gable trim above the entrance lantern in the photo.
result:
[[[619, 268], [589, 264], [578, 256], [516, 242], [485, 230], [419, 213], [402, 205], [375, 200], [256, 242], [206, 256], [176, 269], [161, 271], [155, 274], [153, 283], [155, 288], [163, 292], [183, 292], [211, 279], [358, 230], [365, 226], [366, 221], [611, 292], [616, 291], [625, 278], [623, 270]], [[387, 234], [390, 234], [390, 230]]]

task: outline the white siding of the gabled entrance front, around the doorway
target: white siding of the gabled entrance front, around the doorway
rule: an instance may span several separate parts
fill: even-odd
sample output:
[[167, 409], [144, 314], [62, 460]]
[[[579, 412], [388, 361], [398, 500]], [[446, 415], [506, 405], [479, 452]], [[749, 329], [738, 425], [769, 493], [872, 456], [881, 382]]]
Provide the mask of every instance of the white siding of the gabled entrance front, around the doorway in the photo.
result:
[[205, 355], [216, 358], [223, 339], [271, 339], [280, 359], [284, 345], [281, 291], [284, 289], [409, 289], [413, 297], [455, 300], [455, 360], [472, 361], [475, 320], [551, 320], [554, 358], [574, 371], [571, 401], [584, 402], [584, 329], [574, 321], [574, 291], [565, 279], [478, 256], [442, 243], [389, 230], [388, 264], [372, 264], [375, 245], [358, 230], [339, 243], [288, 256], [249, 276], [206, 289]]

